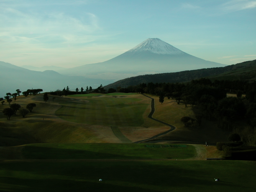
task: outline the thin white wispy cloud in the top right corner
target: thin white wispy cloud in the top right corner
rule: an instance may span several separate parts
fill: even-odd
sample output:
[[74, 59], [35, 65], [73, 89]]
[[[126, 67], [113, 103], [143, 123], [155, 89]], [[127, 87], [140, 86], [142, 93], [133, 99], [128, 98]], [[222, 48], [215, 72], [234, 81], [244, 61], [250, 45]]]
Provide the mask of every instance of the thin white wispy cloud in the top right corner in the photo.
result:
[[232, 0], [221, 5], [222, 11], [234, 12], [245, 9], [253, 9], [256, 7], [256, 1], [250, 0]]

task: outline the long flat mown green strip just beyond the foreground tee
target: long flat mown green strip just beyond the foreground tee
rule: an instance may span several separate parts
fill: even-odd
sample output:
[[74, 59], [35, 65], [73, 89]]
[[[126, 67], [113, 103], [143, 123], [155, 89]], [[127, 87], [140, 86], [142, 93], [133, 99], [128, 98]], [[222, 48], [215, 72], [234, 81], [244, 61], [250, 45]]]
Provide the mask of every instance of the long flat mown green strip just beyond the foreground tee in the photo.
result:
[[38, 143], [22, 149], [25, 159], [187, 159], [192, 145], [135, 143]]

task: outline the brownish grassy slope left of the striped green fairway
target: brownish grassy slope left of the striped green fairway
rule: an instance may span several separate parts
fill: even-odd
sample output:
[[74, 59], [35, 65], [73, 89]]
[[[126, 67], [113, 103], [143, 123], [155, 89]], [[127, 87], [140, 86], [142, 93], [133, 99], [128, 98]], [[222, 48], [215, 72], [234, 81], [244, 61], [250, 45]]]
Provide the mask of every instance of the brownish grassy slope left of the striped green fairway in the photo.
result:
[[[50, 99], [52, 97], [49, 95]], [[7, 121], [3, 113], [0, 113], [1, 146], [45, 142], [110, 142], [106, 134], [115, 137], [110, 128], [67, 122], [57, 117], [55, 111], [61, 107], [58, 102], [64, 101], [69, 99], [56, 96], [54, 102], [50, 100], [50, 103], [45, 103], [42, 94], [18, 97], [16, 103], [21, 107], [25, 108], [31, 102], [36, 103], [36, 107], [26, 118], [22, 118], [17, 112], [17, 116], [12, 116], [11, 120]], [[6, 104], [0, 105], [0, 111], [7, 107], [9, 106]]]

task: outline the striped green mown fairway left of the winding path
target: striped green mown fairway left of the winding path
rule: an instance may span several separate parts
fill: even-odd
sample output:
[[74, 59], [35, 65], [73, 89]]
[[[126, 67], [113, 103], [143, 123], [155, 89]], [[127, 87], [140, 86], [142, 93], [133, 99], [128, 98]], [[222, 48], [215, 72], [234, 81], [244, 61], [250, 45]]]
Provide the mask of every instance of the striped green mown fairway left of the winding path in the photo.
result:
[[143, 113], [149, 104], [138, 98], [89, 98], [89, 102], [70, 101], [60, 103], [56, 111], [60, 118], [85, 124], [140, 126]]

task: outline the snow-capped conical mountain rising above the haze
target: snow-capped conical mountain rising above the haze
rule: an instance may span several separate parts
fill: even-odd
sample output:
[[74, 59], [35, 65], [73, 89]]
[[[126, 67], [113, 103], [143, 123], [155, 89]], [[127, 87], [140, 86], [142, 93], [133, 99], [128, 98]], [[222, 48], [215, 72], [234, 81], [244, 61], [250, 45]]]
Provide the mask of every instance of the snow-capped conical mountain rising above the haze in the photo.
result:
[[189, 55], [158, 38], [148, 38], [113, 59], [59, 70], [58, 72], [63, 75], [79, 75], [87, 78], [117, 81], [145, 74], [224, 66], [226, 65]]

